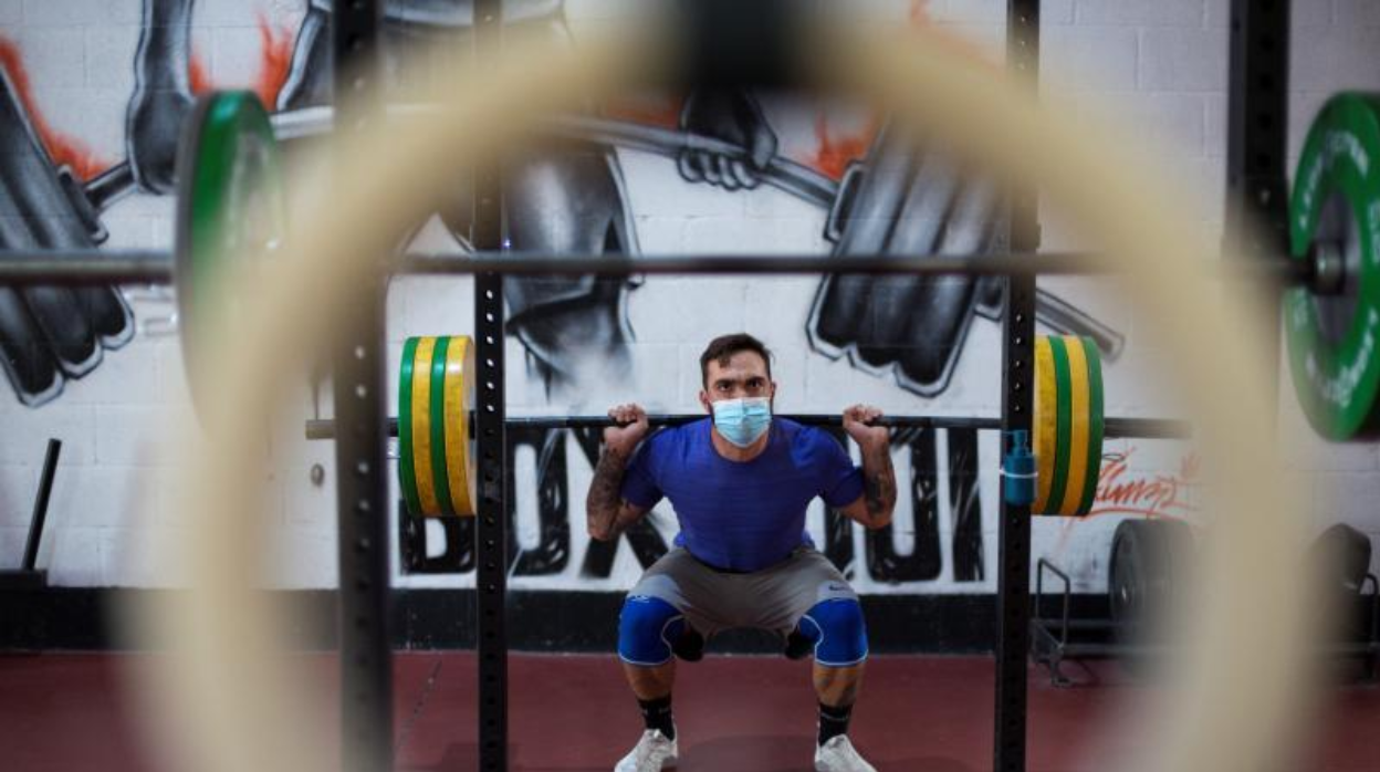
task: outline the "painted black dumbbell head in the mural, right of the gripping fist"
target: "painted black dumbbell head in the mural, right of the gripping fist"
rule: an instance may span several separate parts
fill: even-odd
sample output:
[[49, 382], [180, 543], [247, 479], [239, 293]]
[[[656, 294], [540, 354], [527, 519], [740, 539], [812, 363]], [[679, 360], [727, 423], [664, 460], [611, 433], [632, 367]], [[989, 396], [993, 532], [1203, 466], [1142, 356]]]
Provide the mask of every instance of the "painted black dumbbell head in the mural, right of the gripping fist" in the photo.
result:
[[[834, 254], [1000, 249], [996, 186], [954, 157], [943, 148], [920, 152], [912, 137], [885, 127], [839, 188], [825, 233]], [[998, 319], [1000, 302], [1000, 282], [989, 278], [834, 275], [820, 284], [807, 329], [821, 354], [846, 354], [874, 374], [894, 370], [904, 388], [936, 396], [948, 387], [974, 313]], [[1121, 351], [1116, 331], [1049, 293], [1039, 293], [1036, 315], [1058, 333], [1092, 336], [1108, 358]]]

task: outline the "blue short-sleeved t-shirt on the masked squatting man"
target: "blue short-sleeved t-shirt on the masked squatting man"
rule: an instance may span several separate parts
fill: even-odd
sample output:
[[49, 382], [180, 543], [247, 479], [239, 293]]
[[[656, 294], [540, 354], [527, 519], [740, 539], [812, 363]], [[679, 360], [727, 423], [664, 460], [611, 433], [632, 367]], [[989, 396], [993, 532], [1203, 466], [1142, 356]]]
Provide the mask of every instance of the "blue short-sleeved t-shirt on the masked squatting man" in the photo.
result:
[[816, 496], [846, 507], [862, 494], [862, 472], [834, 436], [773, 418], [767, 447], [751, 461], [713, 449], [709, 418], [647, 438], [628, 464], [622, 497], [651, 508], [671, 500], [680, 519], [676, 544], [712, 566], [760, 570], [802, 544], [805, 511]]

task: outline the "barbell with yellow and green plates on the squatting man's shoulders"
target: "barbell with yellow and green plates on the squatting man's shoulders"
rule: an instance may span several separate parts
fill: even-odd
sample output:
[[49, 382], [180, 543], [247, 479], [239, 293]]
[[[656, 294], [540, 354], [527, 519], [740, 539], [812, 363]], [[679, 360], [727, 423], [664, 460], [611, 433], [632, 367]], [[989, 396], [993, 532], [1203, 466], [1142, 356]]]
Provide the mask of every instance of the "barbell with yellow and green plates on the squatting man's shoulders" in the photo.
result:
[[[397, 481], [407, 511], [418, 517], [472, 517], [475, 476], [475, 344], [466, 336], [411, 337], [403, 345], [397, 381]], [[487, 385], [487, 384], [486, 384]], [[1151, 418], [1105, 418], [1103, 369], [1094, 341], [1076, 336], [1035, 340], [1036, 499], [1034, 514], [1086, 515], [1092, 510], [1107, 436], [1188, 436], [1187, 425]], [[653, 427], [702, 420], [702, 414], [656, 414]], [[814, 427], [842, 427], [838, 414], [784, 416]], [[506, 427], [598, 430], [607, 416], [506, 418]], [[894, 428], [999, 430], [998, 417], [885, 416]], [[335, 436], [330, 420], [306, 423], [308, 439]]]

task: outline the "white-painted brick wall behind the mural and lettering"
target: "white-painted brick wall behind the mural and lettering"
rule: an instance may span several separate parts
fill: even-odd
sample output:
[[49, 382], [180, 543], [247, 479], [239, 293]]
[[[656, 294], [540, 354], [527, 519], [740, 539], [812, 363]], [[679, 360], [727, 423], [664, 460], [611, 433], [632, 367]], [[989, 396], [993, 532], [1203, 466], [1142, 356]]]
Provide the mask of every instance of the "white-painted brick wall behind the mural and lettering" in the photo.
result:
[[[929, 17], [951, 35], [973, 40], [992, 61], [1003, 55], [1005, 0], [930, 0]], [[628, 3], [567, 0], [574, 25], [611, 18]], [[909, 0], [858, 3], [860, 12], [904, 18]], [[1045, 93], [1071, 101], [1070, 117], [1110, 113], [1119, 117], [1126, 146], [1162, 152], [1165, 171], [1196, 202], [1205, 228], [1221, 221], [1223, 156], [1225, 152], [1227, 11], [1228, 0], [1046, 0], [1043, 7]], [[1372, 65], [1380, 43], [1380, 3], [1369, 0], [1294, 0], [1292, 57], [1293, 115], [1290, 152], [1296, 153], [1314, 112], [1339, 88], [1374, 88], [1380, 70]], [[259, 29], [295, 30], [302, 0], [199, 0], [193, 44], [217, 83], [247, 81], [259, 64]], [[70, 134], [108, 160], [124, 155], [124, 109], [132, 88], [132, 55], [138, 39], [138, 0], [11, 0], [0, 1], [0, 35], [23, 55], [34, 95], [54, 128]], [[816, 105], [766, 98], [765, 109], [778, 130], [781, 152], [807, 157], [816, 146]], [[861, 120], [865, 110], [854, 108]], [[842, 126], [842, 124], [840, 124]], [[824, 213], [789, 196], [762, 189], [729, 195], [707, 185], [687, 185], [671, 162], [620, 151], [631, 195], [632, 215], [646, 253], [682, 251], [827, 251], [821, 239]], [[105, 213], [110, 246], [167, 246], [171, 202], [131, 196]], [[1078, 235], [1058, 213], [1045, 218], [1046, 246], [1068, 249]], [[432, 224], [428, 246], [447, 243]], [[513, 414], [602, 412], [621, 399], [639, 399], [653, 409], [697, 412], [697, 358], [704, 341], [719, 331], [747, 329], [777, 351], [774, 374], [781, 383], [782, 412], [834, 412], [845, 402], [864, 401], [890, 412], [992, 414], [999, 394], [998, 329], [973, 322], [952, 385], [926, 401], [894, 385], [887, 376], [854, 370], [846, 359], [813, 354], [805, 340], [805, 319], [818, 282], [653, 278], [628, 296], [635, 331], [635, 377], [598, 392], [549, 399], [529, 371], [523, 349], [508, 348], [509, 409]], [[1108, 366], [1108, 412], [1156, 416], [1172, 405], [1158, 385], [1166, 370], [1165, 352], [1152, 342], [1154, 318], [1126, 302], [1112, 282], [1042, 280], [1042, 286], [1075, 301], [1085, 311], [1126, 333], [1130, 349]], [[135, 293], [142, 322], [167, 315], [172, 305]], [[471, 293], [465, 279], [399, 279], [389, 294], [389, 371], [402, 341], [411, 334], [462, 333], [471, 327]], [[389, 385], [389, 405], [396, 402]], [[270, 494], [264, 518], [270, 523], [268, 557], [275, 577], [290, 587], [334, 584], [334, 454], [328, 443], [301, 439], [301, 421], [310, 414], [305, 388], [277, 420], [266, 449]], [[1283, 431], [1301, 427], [1289, 385], [1281, 387]], [[322, 412], [331, 413], [328, 384]], [[175, 584], [185, 566], [177, 559], [177, 512], [153, 514], [138, 503], [144, 490], [166, 499], [177, 471], [150, 468], [149, 447], [160, 425], [189, 420], [189, 402], [175, 337], [144, 334], [115, 352], [83, 381], [70, 383], [54, 405], [39, 410], [0, 398], [0, 565], [18, 561], [32, 507], [33, 486], [44, 443], [61, 436], [63, 467], [58, 475], [43, 561], [59, 584]], [[1380, 452], [1373, 445], [1329, 445], [1308, 431], [1282, 447], [1283, 457], [1312, 475], [1314, 515], [1319, 522], [1343, 519], [1380, 532], [1380, 517], [1369, 512], [1380, 485]], [[1125, 447], [1125, 443], [1121, 445]], [[1140, 443], [1133, 468], [1154, 474], [1177, 465], [1173, 443]], [[995, 446], [984, 441], [985, 465]], [[326, 483], [310, 483], [320, 464]], [[571, 456], [571, 496], [588, 481], [582, 460]], [[141, 482], [142, 481], [142, 482]], [[947, 485], [947, 483], [945, 483]], [[987, 548], [995, 550], [995, 482], [984, 479], [988, 514]], [[943, 518], [949, 518], [947, 512]], [[904, 519], [904, 518], [903, 518]], [[1083, 590], [1105, 580], [1105, 544], [1116, 518], [1082, 523], [1041, 521], [1036, 552], [1072, 563]], [[944, 519], [945, 534], [952, 522]], [[578, 529], [578, 523], [577, 528]], [[573, 563], [582, 555], [575, 533]], [[949, 543], [944, 543], [945, 577], [952, 576]], [[12, 555], [12, 557], [11, 557]], [[995, 554], [988, 565], [995, 562]], [[574, 569], [571, 569], [574, 570]], [[631, 576], [631, 555], [620, 555], [615, 576]], [[991, 570], [988, 572], [991, 577]], [[571, 573], [571, 576], [574, 576]], [[461, 580], [461, 583], [468, 581]], [[559, 579], [553, 581], [560, 581]], [[621, 580], [610, 581], [617, 587]], [[454, 577], [406, 577], [400, 584], [454, 586]], [[538, 586], [535, 583], [534, 586]], [[947, 580], [926, 590], [952, 588]]]

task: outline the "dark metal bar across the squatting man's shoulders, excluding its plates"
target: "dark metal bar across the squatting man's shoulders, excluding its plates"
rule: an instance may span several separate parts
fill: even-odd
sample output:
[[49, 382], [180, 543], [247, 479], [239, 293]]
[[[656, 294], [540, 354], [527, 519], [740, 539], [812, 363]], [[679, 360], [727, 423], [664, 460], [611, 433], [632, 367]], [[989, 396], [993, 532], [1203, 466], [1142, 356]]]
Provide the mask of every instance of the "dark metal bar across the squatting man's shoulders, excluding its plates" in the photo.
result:
[[[647, 416], [653, 427], [676, 427], [704, 418], [700, 413], [686, 414], [656, 414]], [[799, 424], [814, 427], [842, 427], [843, 418], [836, 414], [807, 414], [782, 416]], [[524, 418], [506, 418], [506, 428], [529, 430], [600, 430], [614, 425], [607, 416], [537, 416]], [[883, 416], [876, 425], [890, 428], [930, 428], [930, 430], [1000, 430], [1002, 420], [998, 417], [962, 417], [962, 416]], [[1140, 439], [1190, 439], [1192, 425], [1187, 421], [1172, 418], [1107, 418], [1108, 438], [1140, 438]], [[388, 436], [397, 436], [397, 418], [388, 418]], [[333, 418], [308, 418], [306, 439], [335, 439], [335, 421]]]

